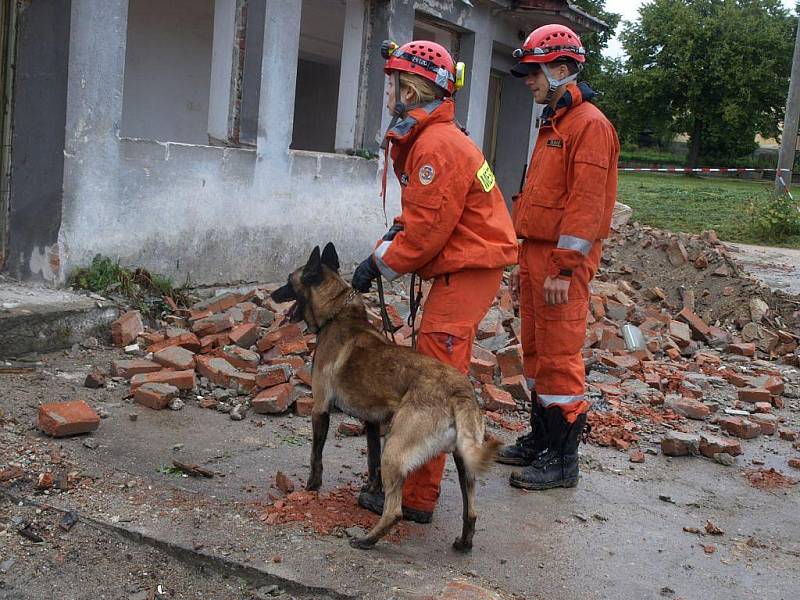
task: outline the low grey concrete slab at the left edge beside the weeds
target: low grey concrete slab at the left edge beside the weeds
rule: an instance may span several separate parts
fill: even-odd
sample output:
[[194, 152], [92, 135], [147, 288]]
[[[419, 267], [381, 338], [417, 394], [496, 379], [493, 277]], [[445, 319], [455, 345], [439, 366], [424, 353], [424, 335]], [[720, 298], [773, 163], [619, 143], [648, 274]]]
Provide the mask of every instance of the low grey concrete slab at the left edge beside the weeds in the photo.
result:
[[69, 348], [108, 338], [117, 308], [107, 300], [0, 276], [0, 357]]

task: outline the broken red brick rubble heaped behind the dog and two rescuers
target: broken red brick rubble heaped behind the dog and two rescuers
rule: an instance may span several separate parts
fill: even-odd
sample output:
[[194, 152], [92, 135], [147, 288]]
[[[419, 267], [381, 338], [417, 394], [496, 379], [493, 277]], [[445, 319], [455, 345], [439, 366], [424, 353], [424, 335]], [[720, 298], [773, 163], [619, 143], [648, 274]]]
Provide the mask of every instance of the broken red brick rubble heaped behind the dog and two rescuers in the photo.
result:
[[[396, 343], [410, 346], [406, 283], [387, 286], [385, 297]], [[179, 400], [233, 420], [309, 416], [316, 336], [288, 322], [288, 306], [274, 303], [271, 289], [224, 291], [177, 308], [155, 328], [139, 327], [135, 311], [123, 314], [118, 345], [135, 332], [141, 356], [113, 361], [112, 380], [129, 380], [134, 400], [153, 409]], [[380, 329], [376, 294], [364, 298]], [[605, 244], [588, 303], [591, 443], [629, 453], [634, 465], [659, 452], [735, 465], [764, 436], [795, 451], [798, 423], [780, 411], [800, 398], [800, 302], [742, 272], [713, 231], [620, 227]], [[531, 402], [515, 309], [504, 282], [470, 365], [490, 429], [512, 432], [527, 428]], [[358, 422], [337, 429], [361, 434]]]

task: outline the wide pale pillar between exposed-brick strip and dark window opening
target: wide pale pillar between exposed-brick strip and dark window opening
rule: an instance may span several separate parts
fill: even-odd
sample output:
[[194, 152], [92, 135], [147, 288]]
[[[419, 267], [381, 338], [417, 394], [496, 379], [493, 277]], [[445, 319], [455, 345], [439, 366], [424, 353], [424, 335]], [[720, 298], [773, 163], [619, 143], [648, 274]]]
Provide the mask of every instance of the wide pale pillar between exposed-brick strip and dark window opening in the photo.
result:
[[302, 0], [267, 0], [264, 16], [254, 181], [277, 194], [288, 193], [291, 180], [301, 8]]

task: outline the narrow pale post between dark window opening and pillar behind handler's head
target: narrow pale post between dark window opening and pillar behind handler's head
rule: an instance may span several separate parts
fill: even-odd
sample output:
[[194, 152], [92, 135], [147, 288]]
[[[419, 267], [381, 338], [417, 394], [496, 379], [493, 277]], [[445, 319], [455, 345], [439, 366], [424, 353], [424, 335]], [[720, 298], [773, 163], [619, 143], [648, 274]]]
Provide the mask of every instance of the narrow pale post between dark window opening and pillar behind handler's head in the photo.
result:
[[347, 0], [339, 72], [339, 102], [336, 109], [337, 152], [356, 147], [358, 90], [364, 66], [364, 0]]

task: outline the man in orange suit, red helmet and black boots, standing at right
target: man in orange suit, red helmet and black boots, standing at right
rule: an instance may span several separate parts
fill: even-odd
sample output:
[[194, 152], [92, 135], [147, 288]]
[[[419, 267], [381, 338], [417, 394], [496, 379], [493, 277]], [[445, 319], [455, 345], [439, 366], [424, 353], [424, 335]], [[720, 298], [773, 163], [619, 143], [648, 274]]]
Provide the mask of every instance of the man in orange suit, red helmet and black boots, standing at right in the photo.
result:
[[542, 490], [578, 483], [578, 444], [589, 403], [582, 348], [589, 282], [597, 272], [617, 195], [619, 140], [576, 83], [586, 52], [563, 25], [536, 29], [514, 52], [511, 72], [543, 104], [522, 192], [513, 202], [522, 240], [518, 276], [525, 376], [532, 392], [531, 432], [497, 460], [523, 465], [514, 487]]

